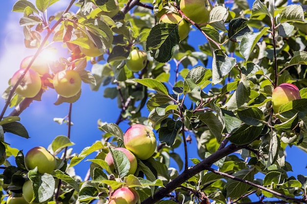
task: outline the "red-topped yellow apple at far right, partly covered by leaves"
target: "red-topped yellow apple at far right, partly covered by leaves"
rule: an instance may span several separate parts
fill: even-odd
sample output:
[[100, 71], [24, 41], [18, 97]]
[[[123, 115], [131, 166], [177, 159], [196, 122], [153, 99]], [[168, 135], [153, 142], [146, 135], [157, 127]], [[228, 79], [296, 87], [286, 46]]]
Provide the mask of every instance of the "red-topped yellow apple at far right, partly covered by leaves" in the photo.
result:
[[287, 102], [300, 98], [300, 90], [297, 86], [289, 83], [279, 85], [272, 92], [272, 107], [274, 113], [279, 113], [280, 107]]

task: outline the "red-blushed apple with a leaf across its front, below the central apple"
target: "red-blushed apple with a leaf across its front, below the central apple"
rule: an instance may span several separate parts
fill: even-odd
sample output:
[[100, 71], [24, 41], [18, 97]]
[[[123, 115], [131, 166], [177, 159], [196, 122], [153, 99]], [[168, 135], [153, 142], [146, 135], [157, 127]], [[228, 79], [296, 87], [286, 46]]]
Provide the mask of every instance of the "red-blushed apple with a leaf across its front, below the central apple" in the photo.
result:
[[[128, 149], [123, 148], [123, 147], [115, 148], [115, 150], [119, 150], [119, 151], [122, 151], [122, 152], [125, 153], [125, 155], [128, 157], [128, 159], [130, 161], [130, 169], [129, 169], [128, 175], [134, 174], [135, 171], [136, 171], [136, 168], [137, 168], [137, 160], [136, 160], [135, 156]], [[105, 162], [108, 163], [111, 171], [114, 172], [115, 171], [114, 160], [113, 160], [110, 152], [105, 156], [104, 160], [105, 160]]]

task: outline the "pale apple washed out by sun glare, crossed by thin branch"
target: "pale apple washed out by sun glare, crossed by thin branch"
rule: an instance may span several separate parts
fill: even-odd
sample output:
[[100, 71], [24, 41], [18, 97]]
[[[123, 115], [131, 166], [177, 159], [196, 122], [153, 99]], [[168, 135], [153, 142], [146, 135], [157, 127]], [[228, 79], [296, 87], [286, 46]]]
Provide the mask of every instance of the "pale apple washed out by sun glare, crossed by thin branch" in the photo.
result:
[[[23, 59], [23, 61], [20, 64], [20, 68], [27, 68], [27, 66], [30, 64], [31, 60], [33, 59], [33, 57], [34, 56], [31, 55]], [[30, 68], [38, 72], [40, 75], [49, 73], [48, 61], [40, 56], [35, 58]]]

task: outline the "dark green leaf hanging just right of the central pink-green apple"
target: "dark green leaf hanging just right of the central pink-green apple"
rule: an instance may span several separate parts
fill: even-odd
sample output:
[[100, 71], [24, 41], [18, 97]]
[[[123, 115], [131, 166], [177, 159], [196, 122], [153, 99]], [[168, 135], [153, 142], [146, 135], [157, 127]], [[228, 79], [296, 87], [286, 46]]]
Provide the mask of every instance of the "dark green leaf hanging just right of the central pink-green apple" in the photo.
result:
[[172, 118], [166, 118], [161, 122], [159, 129], [159, 140], [165, 142], [167, 145], [172, 146], [182, 128], [181, 121], [174, 121]]

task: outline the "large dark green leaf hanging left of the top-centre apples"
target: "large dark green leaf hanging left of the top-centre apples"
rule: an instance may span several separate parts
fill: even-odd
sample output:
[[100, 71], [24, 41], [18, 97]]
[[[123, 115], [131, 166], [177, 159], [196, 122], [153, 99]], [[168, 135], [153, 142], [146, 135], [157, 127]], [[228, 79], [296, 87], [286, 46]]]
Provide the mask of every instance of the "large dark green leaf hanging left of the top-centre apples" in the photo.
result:
[[168, 62], [179, 44], [178, 25], [158, 23], [153, 26], [146, 40], [146, 50], [158, 62]]

